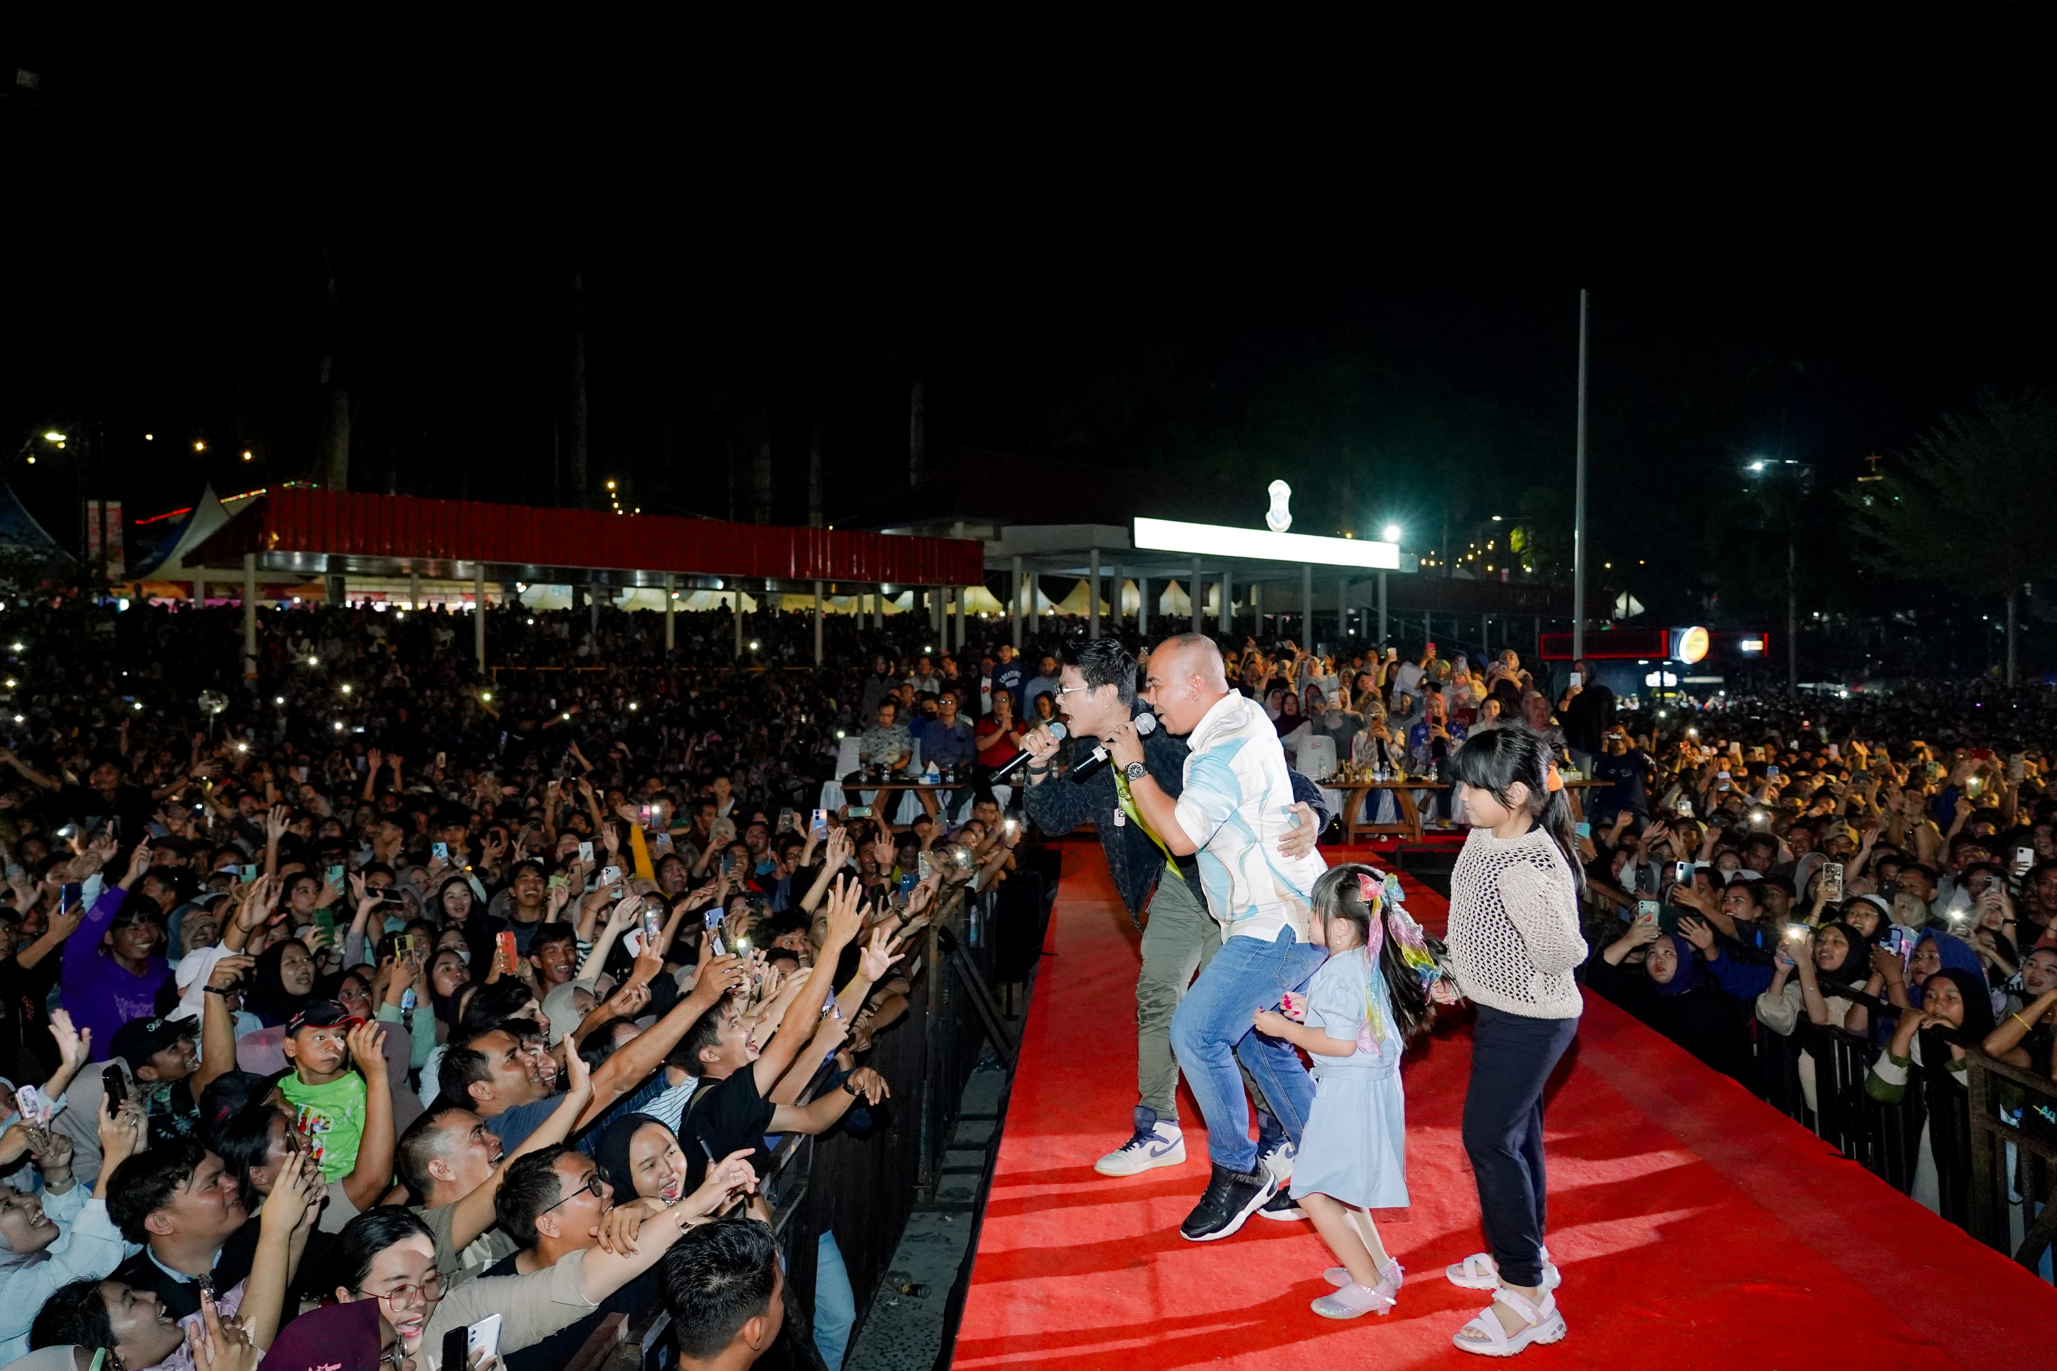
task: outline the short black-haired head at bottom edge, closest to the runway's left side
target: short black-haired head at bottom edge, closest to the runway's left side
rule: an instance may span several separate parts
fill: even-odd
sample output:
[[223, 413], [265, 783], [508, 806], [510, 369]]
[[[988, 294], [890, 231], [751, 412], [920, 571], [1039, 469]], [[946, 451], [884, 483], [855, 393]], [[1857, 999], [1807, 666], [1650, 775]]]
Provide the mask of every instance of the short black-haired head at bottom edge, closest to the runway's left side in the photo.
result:
[[786, 1324], [778, 1239], [757, 1219], [718, 1219], [664, 1254], [664, 1309], [681, 1371], [743, 1371]]

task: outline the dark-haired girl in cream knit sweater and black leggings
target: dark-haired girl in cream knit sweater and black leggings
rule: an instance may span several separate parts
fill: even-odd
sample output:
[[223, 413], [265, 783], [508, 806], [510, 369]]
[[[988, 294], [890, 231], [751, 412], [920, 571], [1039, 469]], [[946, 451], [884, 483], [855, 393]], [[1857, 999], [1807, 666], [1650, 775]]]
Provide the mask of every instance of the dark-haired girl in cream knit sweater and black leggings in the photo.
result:
[[1452, 1285], [1493, 1291], [1456, 1346], [1512, 1357], [1565, 1334], [1557, 1268], [1543, 1248], [1543, 1085], [1578, 1036], [1584, 1009], [1572, 970], [1586, 960], [1578, 927], [1580, 865], [1572, 806], [1549, 742], [1508, 724], [1467, 742], [1452, 779], [1475, 824], [1450, 874], [1450, 968], [1479, 1009], [1465, 1151], [1479, 1182], [1491, 1252], [1448, 1268]]

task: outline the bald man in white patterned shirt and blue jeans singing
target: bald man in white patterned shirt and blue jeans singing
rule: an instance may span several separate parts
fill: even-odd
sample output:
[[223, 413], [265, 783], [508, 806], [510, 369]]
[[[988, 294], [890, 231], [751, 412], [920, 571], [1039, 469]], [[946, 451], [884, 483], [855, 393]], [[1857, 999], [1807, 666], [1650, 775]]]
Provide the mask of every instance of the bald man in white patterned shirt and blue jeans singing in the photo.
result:
[[1185, 734], [1185, 787], [1177, 798], [1150, 779], [1133, 724], [1103, 738], [1123, 769], [1142, 820], [1172, 855], [1197, 853], [1207, 913], [1222, 925], [1222, 950], [1179, 1001], [1170, 1046], [1207, 1120], [1214, 1176], [1179, 1233], [1193, 1242], [1228, 1237], [1271, 1202], [1277, 1176], [1251, 1141], [1251, 1102], [1236, 1061], [1249, 1069], [1294, 1147], [1314, 1102], [1300, 1057], [1259, 1034], [1253, 1017], [1302, 989], [1323, 962], [1308, 941], [1319, 853], [1279, 855], [1294, 826], [1292, 773], [1277, 728], [1263, 707], [1228, 689], [1212, 639], [1181, 633], [1150, 654], [1144, 697], [1172, 734]]

